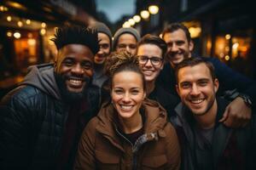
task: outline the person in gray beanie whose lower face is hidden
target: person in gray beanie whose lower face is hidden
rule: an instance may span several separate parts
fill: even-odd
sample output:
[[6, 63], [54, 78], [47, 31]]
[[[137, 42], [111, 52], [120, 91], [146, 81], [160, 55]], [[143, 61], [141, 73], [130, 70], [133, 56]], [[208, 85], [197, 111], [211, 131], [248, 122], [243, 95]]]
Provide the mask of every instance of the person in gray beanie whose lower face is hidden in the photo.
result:
[[113, 50], [126, 50], [131, 54], [137, 53], [137, 42], [141, 39], [140, 33], [132, 28], [120, 28], [113, 36]]

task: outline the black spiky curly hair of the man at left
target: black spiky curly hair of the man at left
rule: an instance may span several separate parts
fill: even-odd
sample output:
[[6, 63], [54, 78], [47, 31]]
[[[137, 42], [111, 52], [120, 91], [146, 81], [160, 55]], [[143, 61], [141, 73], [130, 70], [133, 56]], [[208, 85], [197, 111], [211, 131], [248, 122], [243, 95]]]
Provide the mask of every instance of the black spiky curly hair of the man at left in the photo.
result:
[[82, 44], [90, 48], [93, 54], [99, 51], [96, 30], [82, 26], [65, 26], [58, 28], [55, 32], [55, 37], [50, 40], [55, 42], [55, 46], [58, 50], [68, 44]]

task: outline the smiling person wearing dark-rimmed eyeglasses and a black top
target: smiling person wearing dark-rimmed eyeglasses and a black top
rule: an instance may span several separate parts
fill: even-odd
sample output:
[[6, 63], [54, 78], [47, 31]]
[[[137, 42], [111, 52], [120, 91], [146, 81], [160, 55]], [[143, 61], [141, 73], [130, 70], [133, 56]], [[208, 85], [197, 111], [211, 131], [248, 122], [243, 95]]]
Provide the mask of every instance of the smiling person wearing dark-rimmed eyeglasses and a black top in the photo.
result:
[[167, 93], [164, 88], [155, 83], [156, 78], [163, 69], [166, 49], [167, 45], [164, 40], [147, 34], [138, 42], [137, 56], [146, 80], [148, 99], [158, 101], [166, 109], [168, 117], [170, 117], [179, 99]]

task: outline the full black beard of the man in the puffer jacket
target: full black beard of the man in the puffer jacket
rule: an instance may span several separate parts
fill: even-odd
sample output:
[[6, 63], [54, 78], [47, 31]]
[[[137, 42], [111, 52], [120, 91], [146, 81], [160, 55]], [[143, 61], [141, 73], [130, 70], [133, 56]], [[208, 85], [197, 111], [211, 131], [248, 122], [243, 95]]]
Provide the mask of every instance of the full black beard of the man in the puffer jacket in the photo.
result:
[[84, 78], [83, 81], [85, 82], [85, 85], [81, 92], [71, 92], [67, 89], [66, 80], [69, 79], [69, 77], [73, 77], [73, 76], [60, 75], [55, 73], [55, 80], [58, 88], [60, 89], [62, 99], [69, 103], [74, 103], [79, 101], [80, 99], [84, 99], [84, 97], [86, 96], [86, 91], [87, 91], [86, 89], [91, 84], [90, 77], [83, 77]]

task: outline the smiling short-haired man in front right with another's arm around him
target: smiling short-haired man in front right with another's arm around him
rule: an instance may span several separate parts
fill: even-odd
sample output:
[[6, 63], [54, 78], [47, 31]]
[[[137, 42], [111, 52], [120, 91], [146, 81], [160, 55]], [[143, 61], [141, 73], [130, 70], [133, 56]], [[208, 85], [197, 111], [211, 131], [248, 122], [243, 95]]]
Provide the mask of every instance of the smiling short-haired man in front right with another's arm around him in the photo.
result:
[[184, 59], [175, 75], [182, 103], [172, 124], [183, 151], [182, 169], [255, 169], [255, 122], [236, 129], [219, 122], [229, 102], [216, 97], [219, 83], [212, 64]]

